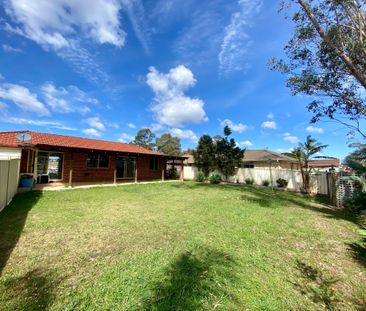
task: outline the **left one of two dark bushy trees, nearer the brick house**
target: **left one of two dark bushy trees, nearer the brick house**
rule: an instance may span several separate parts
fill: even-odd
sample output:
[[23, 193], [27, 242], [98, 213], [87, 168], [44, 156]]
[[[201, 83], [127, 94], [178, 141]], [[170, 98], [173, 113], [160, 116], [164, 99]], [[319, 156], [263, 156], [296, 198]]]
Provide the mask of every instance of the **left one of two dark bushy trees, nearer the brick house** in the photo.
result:
[[211, 136], [203, 135], [193, 151], [194, 163], [202, 173], [208, 177], [216, 168], [215, 146]]

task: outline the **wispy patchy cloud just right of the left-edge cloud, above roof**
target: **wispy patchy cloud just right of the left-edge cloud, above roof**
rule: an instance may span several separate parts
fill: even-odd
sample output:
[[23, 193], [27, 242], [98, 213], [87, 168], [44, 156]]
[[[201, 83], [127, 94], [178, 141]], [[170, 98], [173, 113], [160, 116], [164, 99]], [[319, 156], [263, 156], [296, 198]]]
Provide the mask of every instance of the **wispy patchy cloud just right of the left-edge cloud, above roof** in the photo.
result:
[[[41, 91], [48, 106], [55, 112], [68, 113], [79, 112], [85, 114], [90, 108], [85, 104], [97, 104], [98, 100], [90, 98], [78, 87], [70, 85], [67, 87], [56, 87], [53, 83], [47, 82], [42, 85]], [[79, 105], [82, 103], [83, 105]]]

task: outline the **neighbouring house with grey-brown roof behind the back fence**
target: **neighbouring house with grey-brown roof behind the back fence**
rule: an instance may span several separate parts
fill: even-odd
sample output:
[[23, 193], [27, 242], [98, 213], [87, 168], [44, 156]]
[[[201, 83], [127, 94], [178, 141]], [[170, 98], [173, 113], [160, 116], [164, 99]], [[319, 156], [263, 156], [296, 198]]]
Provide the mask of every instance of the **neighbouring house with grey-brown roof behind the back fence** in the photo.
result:
[[242, 168], [299, 169], [295, 159], [271, 150], [245, 150]]

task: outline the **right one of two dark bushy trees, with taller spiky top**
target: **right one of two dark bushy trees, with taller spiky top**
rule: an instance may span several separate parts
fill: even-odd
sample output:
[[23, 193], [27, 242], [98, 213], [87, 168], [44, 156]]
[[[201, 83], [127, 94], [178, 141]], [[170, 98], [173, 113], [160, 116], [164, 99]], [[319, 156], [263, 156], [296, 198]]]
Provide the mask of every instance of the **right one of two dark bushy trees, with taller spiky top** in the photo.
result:
[[234, 175], [237, 167], [241, 165], [244, 151], [240, 149], [233, 138], [229, 139], [231, 129], [224, 128], [224, 137], [216, 140], [216, 164], [226, 180]]

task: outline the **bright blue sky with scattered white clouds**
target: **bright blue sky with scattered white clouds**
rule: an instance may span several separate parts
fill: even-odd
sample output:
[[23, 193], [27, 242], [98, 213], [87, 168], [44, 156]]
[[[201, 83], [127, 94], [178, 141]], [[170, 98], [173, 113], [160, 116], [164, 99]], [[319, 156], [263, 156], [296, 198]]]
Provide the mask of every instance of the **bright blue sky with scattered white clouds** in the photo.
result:
[[4, 0], [0, 130], [129, 142], [170, 132], [184, 148], [222, 133], [287, 151], [312, 134], [343, 158], [347, 131], [309, 124], [309, 99], [268, 69], [293, 25], [269, 0]]

